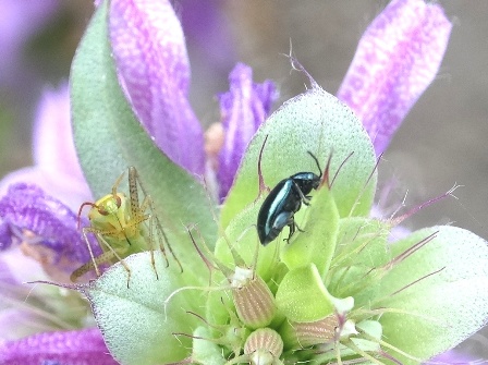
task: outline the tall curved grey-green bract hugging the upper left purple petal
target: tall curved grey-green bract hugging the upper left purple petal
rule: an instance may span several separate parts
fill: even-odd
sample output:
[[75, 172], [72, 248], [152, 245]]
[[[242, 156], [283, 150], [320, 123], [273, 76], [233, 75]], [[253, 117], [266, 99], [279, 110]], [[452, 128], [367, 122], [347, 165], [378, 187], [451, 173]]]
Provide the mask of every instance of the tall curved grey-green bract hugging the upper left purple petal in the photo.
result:
[[186, 234], [183, 224], [197, 223], [212, 243], [217, 229], [204, 186], [152, 143], [121, 90], [108, 38], [109, 3], [95, 12], [70, 75], [73, 133], [85, 178], [94, 196], [101, 197], [134, 166], [173, 241]]

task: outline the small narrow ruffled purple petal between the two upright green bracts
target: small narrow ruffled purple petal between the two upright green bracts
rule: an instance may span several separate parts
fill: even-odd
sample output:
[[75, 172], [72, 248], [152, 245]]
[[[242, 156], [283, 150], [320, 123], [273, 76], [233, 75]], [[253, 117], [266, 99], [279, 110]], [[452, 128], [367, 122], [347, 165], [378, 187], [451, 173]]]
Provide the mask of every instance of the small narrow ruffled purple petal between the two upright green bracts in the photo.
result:
[[253, 83], [253, 71], [243, 63], [237, 63], [232, 70], [229, 83], [229, 92], [219, 95], [224, 130], [217, 173], [221, 199], [227, 196], [232, 185], [247, 144], [268, 117], [271, 104], [277, 97], [274, 84], [271, 81]]

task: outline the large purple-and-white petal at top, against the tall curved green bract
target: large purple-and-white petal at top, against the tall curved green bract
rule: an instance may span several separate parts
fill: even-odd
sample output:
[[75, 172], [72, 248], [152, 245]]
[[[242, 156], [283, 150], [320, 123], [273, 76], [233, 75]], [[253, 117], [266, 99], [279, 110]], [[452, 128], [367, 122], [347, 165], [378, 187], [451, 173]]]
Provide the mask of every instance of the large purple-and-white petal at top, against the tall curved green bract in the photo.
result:
[[119, 80], [141, 123], [175, 163], [203, 174], [203, 131], [186, 97], [188, 60], [170, 2], [113, 0], [109, 19]]

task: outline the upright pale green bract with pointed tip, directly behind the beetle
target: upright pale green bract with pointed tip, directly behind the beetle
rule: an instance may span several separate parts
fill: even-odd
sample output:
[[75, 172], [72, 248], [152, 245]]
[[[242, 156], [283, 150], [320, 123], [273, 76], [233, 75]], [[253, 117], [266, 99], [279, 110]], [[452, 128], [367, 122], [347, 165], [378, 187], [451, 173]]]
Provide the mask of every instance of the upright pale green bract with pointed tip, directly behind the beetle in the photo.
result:
[[340, 216], [369, 214], [377, 181], [369, 136], [344, 104], [314, 85], [284, 102], [251, 141], [222, 207], [223, 228], [259, 195], [257, 171], [261, 149], [263, 178], [271, 188], [301, 171], [318, 174], [316, 162], [307, 151], [318, 158], [321, 169], [332, 155], [330, 180], [342, 165], [332, 186]]

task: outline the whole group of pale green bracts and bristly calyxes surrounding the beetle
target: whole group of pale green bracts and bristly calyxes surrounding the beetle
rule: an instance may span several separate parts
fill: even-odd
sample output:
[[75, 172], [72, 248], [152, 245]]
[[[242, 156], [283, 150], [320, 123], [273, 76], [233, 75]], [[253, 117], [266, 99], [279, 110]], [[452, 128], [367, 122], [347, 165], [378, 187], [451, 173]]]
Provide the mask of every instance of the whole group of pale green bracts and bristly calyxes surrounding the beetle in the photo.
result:
[[[437, 227], [390, 244], [391, 223], [368, 218], [377, 179], [371, 143], [359, 120], [315, 83], [249, 143], [218, 234], [204, 187], [152, 145], [123, 97], [107, 5], [77, 50], [71, 84], [76, 146], [95, 195], [134, 165], [184, 268], [167, 268], [156, 253], [157, 280], [149, 253], [141, 253], [125, 260], [130, 288], [120, 264], [81, 287], [121, 364], [417, 364], [485, 323], [486, 242]], [[268, 192], [259, 178], [272, 188], [298, 171], [316, 172], [307, 151], [326, 172], [295, 215], [303, 232], [286, 243], [284, 229], [261, 246], [255, 224]]]

